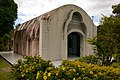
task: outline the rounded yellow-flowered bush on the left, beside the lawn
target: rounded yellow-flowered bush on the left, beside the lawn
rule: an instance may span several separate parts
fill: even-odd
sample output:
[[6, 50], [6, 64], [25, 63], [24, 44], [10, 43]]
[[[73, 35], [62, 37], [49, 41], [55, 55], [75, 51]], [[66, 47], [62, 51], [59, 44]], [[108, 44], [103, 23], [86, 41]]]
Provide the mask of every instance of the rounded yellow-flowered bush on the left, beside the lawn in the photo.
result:
[[[43, 60], [40, 56], [24, 56], [12, 66], [12, 76], [15, 80], [43, 79], [43, 73], [48, 67], [54, 67], [50, 61]], [[39, 76], [39, 77], [38, 77]]]

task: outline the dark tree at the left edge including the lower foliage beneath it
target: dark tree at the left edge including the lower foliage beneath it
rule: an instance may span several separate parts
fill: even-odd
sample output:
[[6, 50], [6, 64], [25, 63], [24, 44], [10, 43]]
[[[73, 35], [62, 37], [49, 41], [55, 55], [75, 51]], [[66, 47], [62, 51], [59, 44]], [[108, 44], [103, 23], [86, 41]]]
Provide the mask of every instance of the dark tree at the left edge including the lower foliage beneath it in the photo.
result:
[[12, 50], [16, 19], [17, 4], [14, 0], [0, 0], [0, 51]]

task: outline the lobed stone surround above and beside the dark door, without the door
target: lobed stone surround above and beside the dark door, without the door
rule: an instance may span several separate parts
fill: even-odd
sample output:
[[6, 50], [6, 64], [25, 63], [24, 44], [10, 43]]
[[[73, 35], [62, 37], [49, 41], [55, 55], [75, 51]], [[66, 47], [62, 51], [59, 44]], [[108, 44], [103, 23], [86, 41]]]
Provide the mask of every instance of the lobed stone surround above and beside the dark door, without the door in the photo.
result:
[[[68, 47], [69, 46], [67, 46], [68, 45], [68, 35], [70, 34], [70, 33], [73, 33], [73, 32], [76, 32], [76, 33], [78, 33], [79, 34], [79, 36], [80, 36], [80, 53], [82, 54], [82, 53], [85, 53], [84, 52], [84, 48], [85, 48], [85, 37], [86, 37], [86, 26], [83, 26], [83, 25], [81, 25], [81, 24], [84, 24], [84, 22], [83, 22], [83, 18], [82, 18], [82, 16], [81, 16], [81, 14], [79, 13], [79, 12], [76, 12], [76, 11], [74, 11], [74, 12], [71, 12], [71, 15], [69, 16], [71, 19], [69, 20], [69, 22], [68, 23], [66, 23], [66, 24], [68, 24], [68, 25], [66, 25], [66, 29], [67, 29], [67, 31], [65, 31], [65, 37], [67, 37], [67, 40], [66, 40], [66, 47], [67, 47], [67, 49], [68, 49]], [[79, 44], [79, 43], [78, 43]], [[66, 52], [67, 54], [68, 54], [68, 50], [67, 50], [67, 52]], [[80, 54], [79, 53], [79, 54]], [[68, 56], [67, 56], [68, 57]]]

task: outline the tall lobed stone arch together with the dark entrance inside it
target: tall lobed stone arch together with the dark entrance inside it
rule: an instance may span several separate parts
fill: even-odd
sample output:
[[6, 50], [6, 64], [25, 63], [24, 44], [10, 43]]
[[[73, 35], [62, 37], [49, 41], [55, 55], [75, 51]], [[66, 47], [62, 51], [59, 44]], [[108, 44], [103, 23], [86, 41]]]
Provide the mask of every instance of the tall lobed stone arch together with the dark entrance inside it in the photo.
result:
[[[66, 57], [67, 59], [69, 57], [71, 57], [69, 54], [70, 54], [70, 51], [69, 51], [69, 36], [72, 36], [72, 33], [73, 34], [76, 34], [76, 36], [78, 37], [79, 35], [79, 38], [76, 38], [79, 39], [79, 41], [77, 41], [77, 44], [78, 47], [76, 47], [76, 49], [78, 49], [79, 51], [73, 51], [76, 52], [73, 57], [80, 57], [81, 55], [83, 55], [85, 53], [85, 38], [86, 38], [86, 34], [87, 34], [87, 28], [83, 22], [83, 18], [80, 14], [80, 12], [78, 11], [71, 11], [70, 15], [69, 15], [69, 19], [66, 21], [66, 24], [65, 24], [65, 29], [64, 29], [64, 39], [65, 39], [65, 49], [66, 49]], [[71, 35], [70, 35], [71, 34]], [[78, 34], [78, 35], [77, 35]], [[75, 36], [75, 35], [73, 35]], [[73, 41], [74, 43], [74, 41]], [[76, 44], [76, 43], [75, 43]], [[77, 45], [76, 45], [77, 46]], [[74, 47], [74, 46], [72, 46]], [[73, 50], [74, 48], [71, 48], [71, 50]], [[78, 53], [77, 53], [78, 52]]]

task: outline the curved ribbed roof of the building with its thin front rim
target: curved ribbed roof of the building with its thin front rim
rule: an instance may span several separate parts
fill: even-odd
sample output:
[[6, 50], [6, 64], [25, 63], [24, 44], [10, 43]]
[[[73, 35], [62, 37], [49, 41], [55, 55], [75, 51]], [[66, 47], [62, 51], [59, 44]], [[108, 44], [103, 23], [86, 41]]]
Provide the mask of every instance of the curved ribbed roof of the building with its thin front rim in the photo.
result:
[[[67, 4], [67, 5], [63, 5], [59, 8], [65, 7], [65, 6], [75, 6], [78, 7], [76, 5], [73, 4]], [[16, 33], [17, 34], [25, 34], [26, 36], [28, 36], [29, 38], [31, 38], [32, 36], [35, 37], [36, 35], [39, 34], [39, 30], [40, 30], [40, 21], [41, 20], [49, 20], [50, 17], [53, 15], [53, 13], [58, 10], [59, 8], [56, 8], [52, 11], [49, 11], [45, 14], [42, 14], [38, 17], [35, 17], [29, 21], [26, 21], [23, 24], [20, 24], [20, 26], [17, 27], [16, 29]], [[80, 8], [80, 7], [79, 7]], [[62, 9], [61, 9], [62, 10]], [[83, 9], [80, 8], [80, 10], [84, 11]], [[84, 13], [86, 14], [86, 12], [84, 11]], [[21, 33], [20, 33], [21, 32]]]

